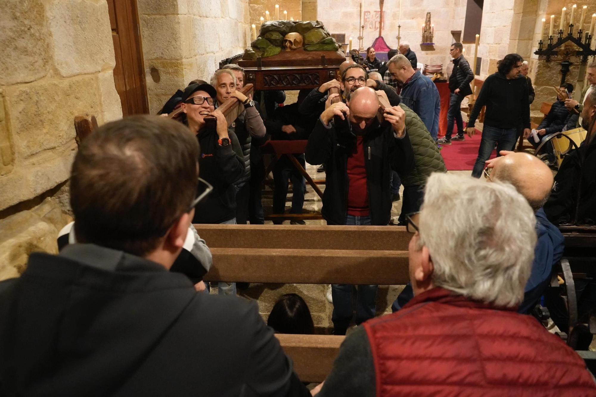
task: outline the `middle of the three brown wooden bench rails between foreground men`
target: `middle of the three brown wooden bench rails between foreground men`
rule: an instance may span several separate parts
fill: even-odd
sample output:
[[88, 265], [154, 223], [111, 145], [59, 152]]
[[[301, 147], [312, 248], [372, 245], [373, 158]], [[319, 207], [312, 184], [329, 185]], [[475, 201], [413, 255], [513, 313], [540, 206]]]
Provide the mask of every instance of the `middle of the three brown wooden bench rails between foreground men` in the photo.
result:
[[[231, 240], [233, 241], [233, 240]], [[294, 284], [406, 284], [408, 252], [211, 248], [206, 281]]]

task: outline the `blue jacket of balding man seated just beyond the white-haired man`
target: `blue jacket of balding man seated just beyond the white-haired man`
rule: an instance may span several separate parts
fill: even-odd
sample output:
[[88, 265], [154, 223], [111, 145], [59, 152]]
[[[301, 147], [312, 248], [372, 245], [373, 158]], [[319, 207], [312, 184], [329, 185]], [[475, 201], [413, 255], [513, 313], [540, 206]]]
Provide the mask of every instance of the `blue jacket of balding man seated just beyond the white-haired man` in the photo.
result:
[[552, 266], [563, 256], [565, 238], [547, 219], [544, 209], [536, 211], [536, 247], [532, 271], [524, 289], [524, 300], [517, 309], [520, 313], [532, 311], [544, 293], [551, 278]]

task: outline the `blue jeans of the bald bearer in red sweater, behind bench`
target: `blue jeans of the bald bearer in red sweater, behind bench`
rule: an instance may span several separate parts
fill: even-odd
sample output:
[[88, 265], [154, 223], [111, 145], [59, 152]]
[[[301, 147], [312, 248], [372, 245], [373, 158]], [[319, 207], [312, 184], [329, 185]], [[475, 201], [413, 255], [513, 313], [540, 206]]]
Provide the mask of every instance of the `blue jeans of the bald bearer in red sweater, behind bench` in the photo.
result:
[[[370, 216], [346, 216], [346, 225], [370, 225]], [[350, 284], [332, 284], [331, 295], [333, 296], [333, 333], [345, 335], [353, 316], [352, 289]], [[356, 303], [356, 325], [373, 318], [377, 309], [378, 286], [361, 284], [358, 286], [358, 298]]]

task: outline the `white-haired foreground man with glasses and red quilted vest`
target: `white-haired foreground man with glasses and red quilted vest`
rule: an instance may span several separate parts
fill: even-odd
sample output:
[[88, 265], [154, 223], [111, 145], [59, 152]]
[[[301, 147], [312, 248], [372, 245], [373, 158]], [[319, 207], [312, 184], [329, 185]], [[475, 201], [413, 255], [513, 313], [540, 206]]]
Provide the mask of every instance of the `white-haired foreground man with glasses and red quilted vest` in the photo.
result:
[[407, 228], [414, 299], [350, 332], [319, 397], [596, 393], [578, 354], [515, 311], [536, 232], [511, 185], [434, 173]]

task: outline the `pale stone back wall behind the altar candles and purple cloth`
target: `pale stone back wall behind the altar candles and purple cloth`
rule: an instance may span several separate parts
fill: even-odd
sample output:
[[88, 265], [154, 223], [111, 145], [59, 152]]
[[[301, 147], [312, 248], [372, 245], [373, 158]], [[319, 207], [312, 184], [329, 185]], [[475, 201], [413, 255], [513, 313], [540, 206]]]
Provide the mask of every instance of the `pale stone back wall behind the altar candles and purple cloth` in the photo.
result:
[[[358, 23], [360, 1], [350, 1], [342, 4], [337, 10], [334, 0], [318, 0], [318, 20], [325, 24], [331, 33], [345, 33], [346, 41], [353, 39], [353, 48], [358, 49]], [[363, 47], [373, 45], [378, 36], [378, 0], [364, 0], [365, 30]], [[398, 24], [401, 24], [401, 42], [409, 42], [410, 48], [418, 57], [419, 63], [443, 64], [443, 71], [451, 60], [449, 46], [454, 42], [451, 30], [463, 30], [465, 18], [465, 0], [402, 0], [401, 19], [399, 17], [399, 0], [386, 0], [383, 5], [384, 26], [383, 38], [390, 48], [397, 48]], [[434, 46], [421, 48], [422, 26], [426, 13], [431, 13], [434, 24]], [[371, 21], [368, 14], [371, 15]], [[376, 14], [375, 14], [376, 13]], [[473, 45], [465, 46], [465, 56], [468, 57]], [[469, 58], [469, 57], [468, 57]]]

